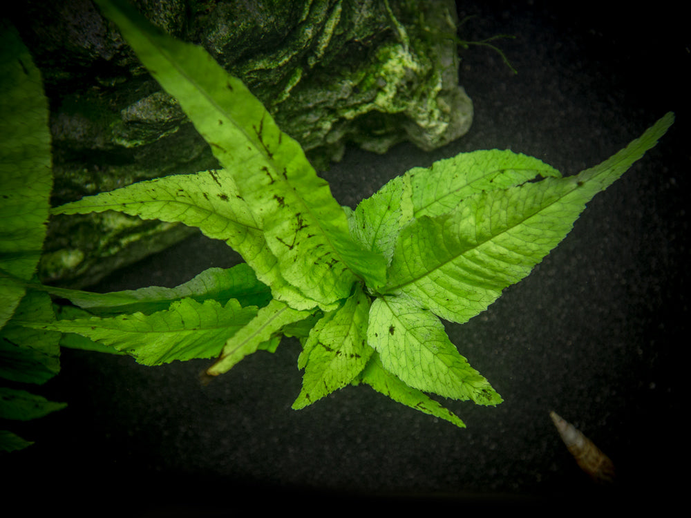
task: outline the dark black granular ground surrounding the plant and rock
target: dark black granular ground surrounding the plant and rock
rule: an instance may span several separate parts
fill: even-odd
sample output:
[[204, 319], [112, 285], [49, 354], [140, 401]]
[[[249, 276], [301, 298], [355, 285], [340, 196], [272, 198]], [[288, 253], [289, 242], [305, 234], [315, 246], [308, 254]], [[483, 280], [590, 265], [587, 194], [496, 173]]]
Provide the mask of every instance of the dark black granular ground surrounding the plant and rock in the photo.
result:
[[[605, 498], [663, 511], [683, 496], [690, 42], [678, 10], [622, 5], [459, 2], [460, 17], [477, 15], [465, 39], [515, 35], [495, 44], [518, 75], [492, 50], [471, 46], [460, 70], [475, 105], [468, 135], [433, 153], [351, 148], [323, 173], [351, 207], [412, 166], [480, 148], [511, 148], [572, 174], [676, 112], [658, 146], [589, 203], [531, 276], [467, 324], [447, 326], [504, 403], [447, 401], [464, 430], [368, 387], [295, 412], [301, 372], [292, 340], [207, 387], [198, 381], [207, 361], [144, 367], [64, 350], [61, 373], [37, 392], [68, 407], [26, 423], [23, 435], [37, 443], [1, 458], [13, 481], [8, 497], [162, 516], [284, 501], [325, 513], [379, 501], [462, 512]], [[172, 287], [235, 261], [224, 244], [193, 237], [94, 289]], [[591, 485], [549, 410], [609, 454], [618, 486]]]

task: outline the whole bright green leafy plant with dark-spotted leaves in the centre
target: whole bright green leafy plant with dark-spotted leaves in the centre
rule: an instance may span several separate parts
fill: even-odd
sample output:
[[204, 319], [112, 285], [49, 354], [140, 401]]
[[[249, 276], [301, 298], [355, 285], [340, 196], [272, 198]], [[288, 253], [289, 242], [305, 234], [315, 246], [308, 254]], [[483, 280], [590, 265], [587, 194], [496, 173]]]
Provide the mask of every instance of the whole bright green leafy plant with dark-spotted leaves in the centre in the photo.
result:
[[124, 1], [97, 3], [223, 169], [140, 182], [52, 212], [114, 210], [182, 222], [225, 241], [245, 263], [172, 289], [91, 294], [29, 285], [76, 307], [58, 320], [20, 323], [63, 333], [63, 345], [129, 354], [145, 365], [215, 358], [206, 378], [294, 336], [304, 370], [296, 409], [359, 384], [460, 427], [428, 394], [500, 403], [441, 319], [464, 323], [527, 276], [674, 118], [668, 113], [577, 175], [562, 177], [511, 151], [462, 153], [411, 169], [352, 210], [339, 206], [299, 144], [205, 50], [164, 35]]

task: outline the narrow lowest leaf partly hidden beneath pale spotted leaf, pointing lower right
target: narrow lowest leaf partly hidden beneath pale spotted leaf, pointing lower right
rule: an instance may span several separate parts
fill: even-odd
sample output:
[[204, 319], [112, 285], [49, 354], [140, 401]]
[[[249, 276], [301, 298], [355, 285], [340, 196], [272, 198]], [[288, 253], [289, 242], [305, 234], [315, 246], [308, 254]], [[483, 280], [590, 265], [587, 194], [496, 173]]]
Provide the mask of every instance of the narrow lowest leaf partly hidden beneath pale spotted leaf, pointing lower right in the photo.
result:
[[453, 412], [444, 408], [437, 401], [424, 394], [424, 392], [408, 387], [397, 376], [387, 372], [384, 369], [384, 365], [381, 365], [379, 354], [376, 352], [372, 355], [361, 374], [353, 381], [353, 385], [358, 385], [359, 383], [370, 385], [377, 392], [390, 397], [398, 403], [425, 414], [433, 415], [439, 419], [445, 419], [459, 428], [466, 428], [465, 423]]

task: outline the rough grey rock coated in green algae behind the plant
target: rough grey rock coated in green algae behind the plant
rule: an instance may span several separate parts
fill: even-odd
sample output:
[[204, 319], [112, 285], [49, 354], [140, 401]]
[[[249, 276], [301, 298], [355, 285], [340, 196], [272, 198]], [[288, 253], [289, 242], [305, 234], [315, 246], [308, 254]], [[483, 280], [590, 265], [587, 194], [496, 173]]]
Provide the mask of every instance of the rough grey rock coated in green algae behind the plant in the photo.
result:
[[[453, 1], [134, 3], [242, 79], [317, 168], [339, 160], [348, 143], [384, 153], [408, 140], [431, 150], [471, 124]], [[54, 204], [217, 165], [175, 99], [91, 2], [30, 0], [15, 23], [50, 98]], [[54, 218], [42, 280], [84, 287], [189, 235], [127, 219]]]

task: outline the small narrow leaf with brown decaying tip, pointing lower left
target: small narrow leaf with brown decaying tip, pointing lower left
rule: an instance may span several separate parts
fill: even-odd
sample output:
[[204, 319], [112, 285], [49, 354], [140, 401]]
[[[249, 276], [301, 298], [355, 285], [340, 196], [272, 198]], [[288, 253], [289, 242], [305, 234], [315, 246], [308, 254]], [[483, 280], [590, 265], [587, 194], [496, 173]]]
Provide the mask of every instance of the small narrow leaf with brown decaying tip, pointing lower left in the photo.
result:
[[256, 352], [262, 343], [281, 334], [283, 327], [311, 315], [312, 311], [298, 311], [279, 300], [272, 300], [247, 325], [228, 338], [216, 363], [206, 370], [207, 376], [228, 372], [245, 356]]

